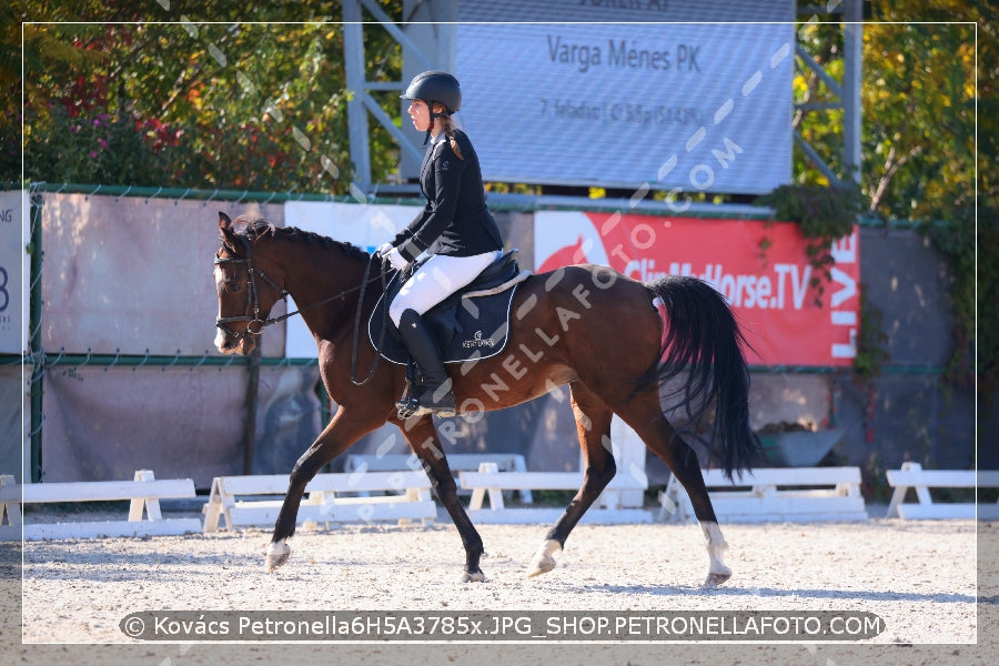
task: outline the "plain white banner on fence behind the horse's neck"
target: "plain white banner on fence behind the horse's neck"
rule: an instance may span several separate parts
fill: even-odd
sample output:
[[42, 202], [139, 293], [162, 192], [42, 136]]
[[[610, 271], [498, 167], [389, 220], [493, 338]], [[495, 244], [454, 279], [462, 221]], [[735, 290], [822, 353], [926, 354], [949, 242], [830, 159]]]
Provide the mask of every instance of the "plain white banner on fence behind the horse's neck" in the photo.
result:
[[[289, 201], [284, 204], [284, 224], [374, 252], [412, 222], [420, 211], [421, 208], [415, 205]], [[289, 312], [297, 309], [291, 297], [287, 309]], [[289, 359], [315, 359], [315, 339], [302, 317], [293, 316], [286, 324], [285, 355]]]

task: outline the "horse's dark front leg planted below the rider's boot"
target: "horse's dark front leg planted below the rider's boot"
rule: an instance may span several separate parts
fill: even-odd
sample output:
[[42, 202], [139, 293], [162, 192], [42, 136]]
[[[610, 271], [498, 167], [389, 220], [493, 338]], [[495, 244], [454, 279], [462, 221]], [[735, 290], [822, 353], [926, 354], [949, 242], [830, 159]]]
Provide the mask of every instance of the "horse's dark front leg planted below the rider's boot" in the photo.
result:
[[410, 420], [400, 426], [410, 447], [423, 463], [423, 468], [430, 478], [437, 500], [447, 509], [454, 526], [457, 527], [462, 537], [462, 544], [465, 546], [465, 573], [462, 576], [463, 582], [481, 582], [485, 581], [485, 574], [478, 566], [478, 561], [483, 555], [482, 537], [472, 524], [472, 519], [465, 512], [457, 497], [457, 486], [454, 477], [451, 475], [451, 467], [447, 458], [444, 457], [444, 450], [437, 440], [437, 431], [434, 428], [434, 422], [431, 416]]

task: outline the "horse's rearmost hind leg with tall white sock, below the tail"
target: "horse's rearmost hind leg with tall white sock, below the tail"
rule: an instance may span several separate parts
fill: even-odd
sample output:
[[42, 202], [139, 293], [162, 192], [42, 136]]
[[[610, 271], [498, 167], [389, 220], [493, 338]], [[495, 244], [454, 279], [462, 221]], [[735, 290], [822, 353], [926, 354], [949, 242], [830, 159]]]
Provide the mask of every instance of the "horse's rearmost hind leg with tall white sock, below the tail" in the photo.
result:
[[731, 569], [725, 564], [724, 555], [728, 549], [722, 529], [718, 527], [718, 518], [715, 516], [715, 507], [704, 485], [704, 475], [697, 462], [697, 454], [689, 444], [684, 442], [674, 427], [666, 420], [659, 406], [658, 395], [654, 392], [635, 396], [618, 412], [618, 415], [635, 433], [642, 437], [645, 445], [658, 455], [676, 480], [690, 496], [694, 515], [704, 532], [705, 547], [710, 558], [705, 587], [714, 587], [725, 583], [731, 576]]

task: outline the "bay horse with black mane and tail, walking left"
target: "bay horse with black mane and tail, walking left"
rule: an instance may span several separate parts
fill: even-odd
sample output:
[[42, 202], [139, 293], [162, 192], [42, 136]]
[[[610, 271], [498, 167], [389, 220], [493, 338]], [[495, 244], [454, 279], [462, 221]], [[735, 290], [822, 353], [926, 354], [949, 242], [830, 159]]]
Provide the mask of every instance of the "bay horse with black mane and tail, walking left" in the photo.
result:
[[[337, 405], [291, 471], [266, 568], [273, 571], [289, 558], [286, 542], [294, 534], [305, 485], [363, 435], [391, 422], [421, 461], [461, 535], [463, 581], [484, 581], [482, 538], [458, 501], [432, 416], [400, 418], [395, 401], [403, 392], [405, 369], [377, 364], [371, 341], [365, 335], [359, 341], [357, 322], [366, 323], [383, 289], [376, 280], [379, 259], [265, 220], [240, 216], [233, 222], [220, 212], [219, 228], [215, 346], [225, 354], [250, 353], [262, 329], [284, 319], [268, 319], [274, 303], [291, 295], [315, 336], [320, 374]], [[579, 491], [545, 535], [528, 576], [555, 567], [554, 556], [614, 477], [610, 420], [617, 414], [689, 494], [710, 562], [705, 586], [727, 581], [731, 569], [723, 555], [728, 545], [698, 457], [660, 404], [660, 386], [680, 382], [667, 396], [684, 405], [693, 422], [713, 414], [710, 448], [727, 475], [749, 470], [758, 458], [759, 444], [749, 430], [749, 373], [743, 354], [748, 345], [722, 295], [693, 278], [644, 284], [606, 266], [573, 265], [522, 282], [511, 320], [506, 352], [451, 371], [458, 411], [500, 410], [568, 384], [585, 467]], [[374, 366], [370, 381], [355, 381], [357, 366]]]

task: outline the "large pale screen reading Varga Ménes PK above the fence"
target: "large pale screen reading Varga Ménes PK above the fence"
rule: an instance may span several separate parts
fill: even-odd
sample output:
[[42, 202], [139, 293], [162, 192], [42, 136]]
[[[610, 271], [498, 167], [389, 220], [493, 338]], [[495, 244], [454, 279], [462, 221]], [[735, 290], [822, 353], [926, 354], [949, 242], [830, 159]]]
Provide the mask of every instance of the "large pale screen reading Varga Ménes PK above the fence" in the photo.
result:
[[[461, 16], [504, 4], [523, 9], [465, 0]], [[554, 4], [566, 21], [630, 19]], [[673, 4], [643, 20], [692, 20]], [[727, 4], [745, 14], [768, 3]], [[458, 117], [484, 178], [735, 193], [789, 182], [794, 6], [776, 7], [783, 23], [458, 24]]]

